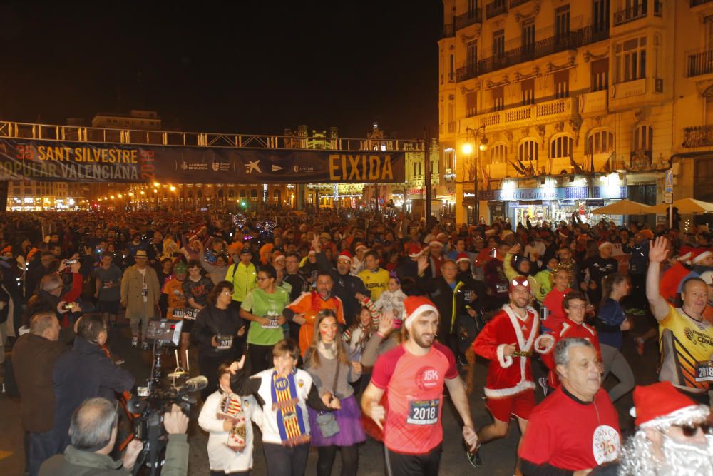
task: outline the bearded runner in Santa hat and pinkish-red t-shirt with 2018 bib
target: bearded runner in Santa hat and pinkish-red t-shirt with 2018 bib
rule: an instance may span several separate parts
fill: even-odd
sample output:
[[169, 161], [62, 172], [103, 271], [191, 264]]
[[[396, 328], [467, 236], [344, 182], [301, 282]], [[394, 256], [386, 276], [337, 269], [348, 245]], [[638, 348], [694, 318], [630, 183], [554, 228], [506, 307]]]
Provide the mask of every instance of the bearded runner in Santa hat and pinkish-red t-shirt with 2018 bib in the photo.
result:
[[[421, 296], [404, 300], [403, 343], [376, 360], [361, 408], [381, 427], [384, 420], [386, 473], [436, 475], [441, 461], [443, 385], [463, 419], [463, 438], [478, 442], [456, 358], [436, 342], [438, 310]], [[388, 391], [386, 391], [388, 390]], [[379, 405], [386, 392], [388, 411]]]

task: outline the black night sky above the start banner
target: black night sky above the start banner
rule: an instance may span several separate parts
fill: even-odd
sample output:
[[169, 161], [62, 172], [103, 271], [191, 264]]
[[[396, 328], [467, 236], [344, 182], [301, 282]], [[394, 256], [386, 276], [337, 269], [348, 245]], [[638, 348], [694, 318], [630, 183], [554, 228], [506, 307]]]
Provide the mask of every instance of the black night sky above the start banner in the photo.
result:
[[[225, 2], [227, 4], [227, 2]], [[0, 6], [0, 118], [146, 108], [183, 131], [436, 133], [440, 1]]]

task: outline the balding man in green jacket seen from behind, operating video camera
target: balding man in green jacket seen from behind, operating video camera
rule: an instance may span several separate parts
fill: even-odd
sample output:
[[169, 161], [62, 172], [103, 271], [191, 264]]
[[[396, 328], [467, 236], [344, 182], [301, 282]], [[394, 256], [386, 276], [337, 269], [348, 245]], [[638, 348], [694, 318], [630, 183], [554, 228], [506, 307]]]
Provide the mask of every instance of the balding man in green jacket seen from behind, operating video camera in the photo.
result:
[[[109, 456], [116, 443], [116, 405], [104, 398], [85, 400], [72, 415], [69, 432], [72, 444], [63, 455], [55, 455], [41, 467], [42, 476], [131, 475], [143, 442], [133, 440], [121, 460]], [[168, 432], [164, 476], [188, 474], [188, 417], [178, 405], [163, 415]]]

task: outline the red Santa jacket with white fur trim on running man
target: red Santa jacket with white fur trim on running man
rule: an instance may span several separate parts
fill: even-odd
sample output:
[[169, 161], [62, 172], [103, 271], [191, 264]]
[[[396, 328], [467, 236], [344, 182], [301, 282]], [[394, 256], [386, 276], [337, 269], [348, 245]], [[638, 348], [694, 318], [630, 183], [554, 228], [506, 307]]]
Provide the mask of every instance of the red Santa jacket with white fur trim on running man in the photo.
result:
[[511, 397], [535, 388], [530, 357], [507, 357], [503, 350], [506, 345], [515, 343], [516, 350], [533, 352], [539, 330], [540, 321], [532, 308], [528, 308], [527, 318], [522, 320], [506, 304], [488, 321], [473, 341], [475, 353], [490, 360], [486, 397]]

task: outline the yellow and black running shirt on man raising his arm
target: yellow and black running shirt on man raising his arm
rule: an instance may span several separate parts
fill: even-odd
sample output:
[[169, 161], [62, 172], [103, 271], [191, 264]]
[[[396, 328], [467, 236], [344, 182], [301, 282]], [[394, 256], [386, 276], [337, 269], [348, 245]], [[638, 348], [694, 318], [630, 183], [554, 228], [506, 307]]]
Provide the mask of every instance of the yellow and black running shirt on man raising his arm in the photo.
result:
[[682, 309], [669, 305], [668, 315], [659, 321], [659, 334], [659, 380], [691, 390], [707, 390], [709, 382], [696, 381], [696, 363], [713, 360], [713, 325], [705, 319], [699, 323]]

